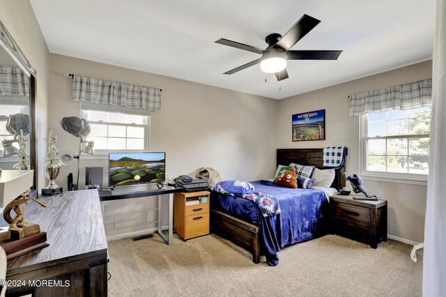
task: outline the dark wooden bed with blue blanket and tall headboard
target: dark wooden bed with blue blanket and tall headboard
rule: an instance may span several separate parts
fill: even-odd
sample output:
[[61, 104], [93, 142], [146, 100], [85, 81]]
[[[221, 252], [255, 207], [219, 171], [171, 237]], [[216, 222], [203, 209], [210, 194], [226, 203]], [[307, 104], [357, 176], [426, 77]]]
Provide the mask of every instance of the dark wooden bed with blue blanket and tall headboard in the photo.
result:
[[[323, 148], [277, 149], [277, 166], [291, 162], [323, 169]], [[345, 186], [344, 171], [344, 167], [335, 169], [330, 188], [339, 190]], [[276, 197], [281, 213], [264, 217], [253, 201], [212, 192], [210, 227], [215, 234], [251, 251], [254, 263], [259, 263], [261, 254], [264, 254], [268, 265], [276, 266], [279, 264], [277, 252], [286, 245], [327, 233], [330, 216], [327, 196], [330, 191], [290, 189], [268, 181], [252, 184], [256, 192]]]

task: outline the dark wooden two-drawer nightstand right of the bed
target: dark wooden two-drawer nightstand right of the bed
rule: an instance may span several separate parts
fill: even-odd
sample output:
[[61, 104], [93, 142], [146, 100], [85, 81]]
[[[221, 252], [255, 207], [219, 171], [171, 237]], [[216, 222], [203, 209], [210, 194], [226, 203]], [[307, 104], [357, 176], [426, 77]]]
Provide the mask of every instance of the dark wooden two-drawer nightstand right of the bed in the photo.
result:
[[387, 201], [354, 200], [351, 195], [333, 195], [330, 206], [333, 234], [368, 243], [371, 248], [376, 248], [381, 240], [387, 241]]

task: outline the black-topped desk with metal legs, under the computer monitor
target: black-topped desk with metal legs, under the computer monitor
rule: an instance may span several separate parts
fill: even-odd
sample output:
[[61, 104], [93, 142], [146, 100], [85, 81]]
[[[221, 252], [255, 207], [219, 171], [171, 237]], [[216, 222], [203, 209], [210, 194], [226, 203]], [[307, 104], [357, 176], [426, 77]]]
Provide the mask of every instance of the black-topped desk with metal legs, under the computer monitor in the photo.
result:
[[[157, 233], [160, 234], [161, 238], [168, 245], [172, 245], [174, 243], [174, 193], [181, 192], [181, 190], [184, 189], [167, 186], [159, 190], [141, 190], [138, 192], [100, 192], [99, 197], [100, 201], [110, 201], [116, 199], [158, 196]], [[162, 195], [169, 195], [169, 231], [167, 236], [162, 232]]]

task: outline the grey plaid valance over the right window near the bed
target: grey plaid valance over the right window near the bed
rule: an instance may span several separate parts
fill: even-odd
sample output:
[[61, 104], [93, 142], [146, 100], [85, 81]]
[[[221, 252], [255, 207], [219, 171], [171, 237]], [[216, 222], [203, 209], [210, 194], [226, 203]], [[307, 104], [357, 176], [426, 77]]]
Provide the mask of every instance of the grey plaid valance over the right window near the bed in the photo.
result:
[[431, 106], [431, 97], [432, 79], [352, 95], [349, 96], [350, 116]]

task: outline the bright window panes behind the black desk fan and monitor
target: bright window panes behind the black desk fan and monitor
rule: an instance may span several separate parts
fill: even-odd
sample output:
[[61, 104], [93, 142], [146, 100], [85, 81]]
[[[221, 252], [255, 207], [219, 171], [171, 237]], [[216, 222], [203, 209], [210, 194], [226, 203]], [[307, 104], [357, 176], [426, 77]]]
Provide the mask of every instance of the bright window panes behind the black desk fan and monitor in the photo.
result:
[[146, 151], [148, 149], [148, 116], [83, 110], [90, 123], [88, 141], [95, 150]]

